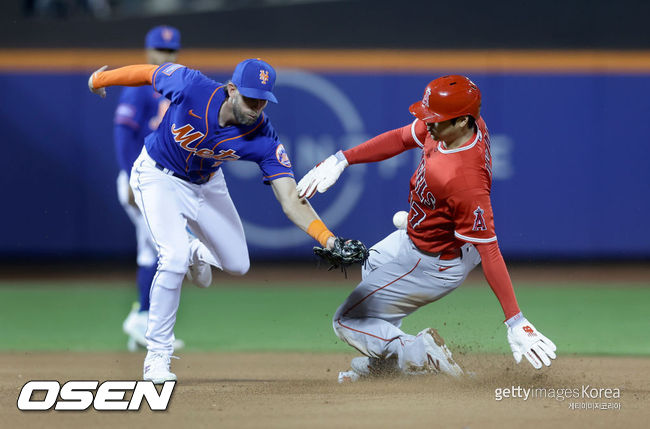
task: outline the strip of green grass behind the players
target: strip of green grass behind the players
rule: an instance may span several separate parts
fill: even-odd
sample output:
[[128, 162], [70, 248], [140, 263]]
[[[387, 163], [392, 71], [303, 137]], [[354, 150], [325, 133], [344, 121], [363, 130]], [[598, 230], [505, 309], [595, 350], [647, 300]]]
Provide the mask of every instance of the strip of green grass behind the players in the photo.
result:
[[[72, 285], [71, 285], [72, 284]], [[650, 355], [650, 288], [625, 284], [518, 284], [524, 314], [559, 354]], [[352, 285], [184, 286], [176, 335], [187, 351], [350, 352], [331, 317]], [[124, 350], [121, 323], [135, 300], [126, 282], [0, 282], [0, 350]], [[465, 284], [406, 318], [414, 333], [437, 327], [452, 350], [508, 353], [492, 291]]]

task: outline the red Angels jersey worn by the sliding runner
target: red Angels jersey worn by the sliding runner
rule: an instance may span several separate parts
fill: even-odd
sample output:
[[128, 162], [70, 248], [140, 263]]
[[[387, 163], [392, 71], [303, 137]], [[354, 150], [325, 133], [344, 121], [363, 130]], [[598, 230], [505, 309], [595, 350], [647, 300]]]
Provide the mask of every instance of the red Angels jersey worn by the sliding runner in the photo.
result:
[[490, 203], [492, 156], [483, 119], [477, 121], [476, 134], [455, 149], [433, 140], [420, 120], [411, 124], [410, 131], [412, 144], [423, 149], [410, 183], [407, 231], [413, 243], [437, 253], [457, 249], [463, 242], [496, 241]]

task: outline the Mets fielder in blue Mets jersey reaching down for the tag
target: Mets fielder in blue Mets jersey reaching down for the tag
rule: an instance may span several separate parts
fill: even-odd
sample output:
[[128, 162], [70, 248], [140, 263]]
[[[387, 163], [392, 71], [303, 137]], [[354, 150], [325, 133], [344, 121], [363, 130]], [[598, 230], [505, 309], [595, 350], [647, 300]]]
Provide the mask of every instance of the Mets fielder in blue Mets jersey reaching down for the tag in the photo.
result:
[[[88, 80], [95, 94], [105, 96], [105, 87], [113, 85], [153, 85], [171, 101], [158, 129], [146, 137], [130, 180], [159, 258], [143, 376], [164, 383], [176, 380], [170, 359], [185, 273], [209, 284], [210, 265], [235, 275], [250, 266], [244, 229], [221, 170], [225, 161], [257, 163], [296, 226], [327, 248], [336, 239], [309, 202], [298, 198], [287, 152], [263, 112], [268, 102], [277, 103], [276, 73], [269, 64], [242, 61], [226, 83], [173, 63], [105, 69]], [[200, 241], [188, 242], [186, 226]]]

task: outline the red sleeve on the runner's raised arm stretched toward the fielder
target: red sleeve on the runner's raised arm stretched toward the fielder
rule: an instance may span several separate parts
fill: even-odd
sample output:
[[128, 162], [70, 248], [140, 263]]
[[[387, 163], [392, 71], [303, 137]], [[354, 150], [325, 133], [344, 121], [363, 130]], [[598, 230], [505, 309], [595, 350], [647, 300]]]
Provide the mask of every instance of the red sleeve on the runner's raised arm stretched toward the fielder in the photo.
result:
[[358, 146], [343, 151], [349, 164], [383, 161], [416, 147], [411, 137], [411, 124], [373, 137]]

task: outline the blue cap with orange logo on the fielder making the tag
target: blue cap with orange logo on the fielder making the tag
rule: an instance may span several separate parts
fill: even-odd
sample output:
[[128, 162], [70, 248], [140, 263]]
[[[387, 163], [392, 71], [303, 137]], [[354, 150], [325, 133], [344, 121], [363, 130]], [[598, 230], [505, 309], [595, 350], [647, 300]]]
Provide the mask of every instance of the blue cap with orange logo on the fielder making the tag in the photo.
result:
[[275, 70], [259, 58], [250, 58], [237, 64], [231, 81], [245, 97], [278, 102], [272, 92]]

